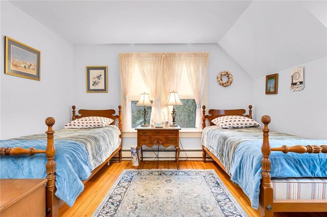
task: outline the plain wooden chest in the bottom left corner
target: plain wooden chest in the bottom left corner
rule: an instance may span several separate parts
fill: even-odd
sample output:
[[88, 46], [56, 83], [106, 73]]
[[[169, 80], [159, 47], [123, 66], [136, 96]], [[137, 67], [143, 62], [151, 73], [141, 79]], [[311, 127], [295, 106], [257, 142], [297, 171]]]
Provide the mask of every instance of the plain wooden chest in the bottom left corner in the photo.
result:
[[0, 179], [0, 216], [45, 216], [46, 179]]

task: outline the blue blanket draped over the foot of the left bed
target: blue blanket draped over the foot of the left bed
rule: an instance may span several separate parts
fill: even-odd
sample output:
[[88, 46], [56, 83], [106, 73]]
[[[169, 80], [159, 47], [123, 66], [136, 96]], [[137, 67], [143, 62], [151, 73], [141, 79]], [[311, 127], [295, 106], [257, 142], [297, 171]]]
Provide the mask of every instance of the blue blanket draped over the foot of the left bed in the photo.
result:
[[[44, 150], [46, 140], [3, 140], [0, 146]], [[56, 196], [68, 206], [73, 206], [84, 189], [81, 180], [91, 175], [88, 155], [84, 145], [75, 141], [56, 140], [55, 148]], [[0, 169], [0, 178], [45, 178], [46, 161], [45, 154], [0, 157], [0, 165], [6, 165]]]

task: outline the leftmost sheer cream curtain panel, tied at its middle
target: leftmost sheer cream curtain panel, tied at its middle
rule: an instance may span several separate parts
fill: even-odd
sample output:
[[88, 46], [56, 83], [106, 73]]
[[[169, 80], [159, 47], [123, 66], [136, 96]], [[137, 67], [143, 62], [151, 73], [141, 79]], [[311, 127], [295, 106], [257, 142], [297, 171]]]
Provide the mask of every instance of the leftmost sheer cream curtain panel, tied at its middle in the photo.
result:
[[135, 68], [135, 60], [133, 60], [133, 53], [120, 53], [119, 54], [119, 71], [121, 78], [121, 88], [124, 94], [123, 102], [123, 120], [122, 127], [123, 131], [131, 129], [132, 116], [131, 116], [131, 103], [128, 100], [130, 96], [130, 87], [133, 82], [133, 71]]

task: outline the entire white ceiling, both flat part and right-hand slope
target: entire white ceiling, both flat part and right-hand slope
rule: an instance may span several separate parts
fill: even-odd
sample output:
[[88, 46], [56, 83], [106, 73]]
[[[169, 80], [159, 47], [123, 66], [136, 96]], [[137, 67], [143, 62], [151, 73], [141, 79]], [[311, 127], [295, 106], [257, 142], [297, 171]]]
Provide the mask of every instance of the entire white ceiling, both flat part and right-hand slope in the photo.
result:
[[252, 77], [327, 55], [326, 1], [10, 1], [73, 44], [218, 43]]

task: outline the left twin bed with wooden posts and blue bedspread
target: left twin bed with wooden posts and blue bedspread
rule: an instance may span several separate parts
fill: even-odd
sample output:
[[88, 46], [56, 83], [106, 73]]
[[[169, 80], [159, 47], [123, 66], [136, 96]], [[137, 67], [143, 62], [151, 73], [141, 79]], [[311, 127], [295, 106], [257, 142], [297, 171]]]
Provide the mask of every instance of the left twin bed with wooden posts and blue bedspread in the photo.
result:
[[46, 134], [0, 141], [1, 155], [9, 155], [0, 157], [0, 178], [48, 179], [46, 208], [50, 216], [58, 213], [58, 199], [73, 206], [84, 189], [83, 183], [115, 153], [119, 152], [121, 161], [121, 106], [116, 116], [114, 110], [80, 110], [79, 113], [80, 116], [75, 116], [73, 106], [73, 120], [90, 116], [118, 119], [120, 128], [112, 122], [101, 128], [60, 129], [54, 132], [52, 126], [55, 120], [47, 118]]

